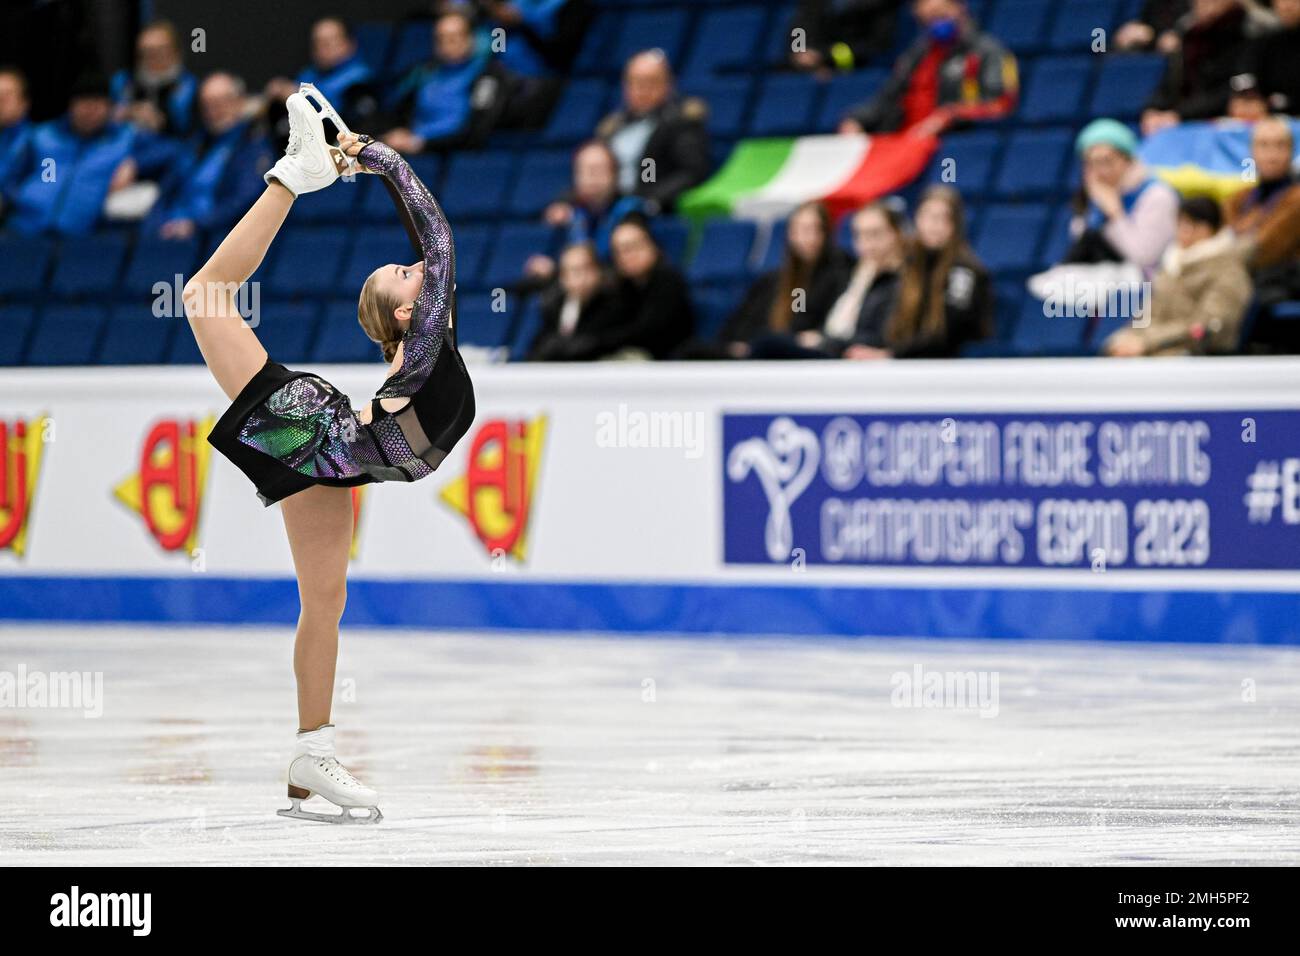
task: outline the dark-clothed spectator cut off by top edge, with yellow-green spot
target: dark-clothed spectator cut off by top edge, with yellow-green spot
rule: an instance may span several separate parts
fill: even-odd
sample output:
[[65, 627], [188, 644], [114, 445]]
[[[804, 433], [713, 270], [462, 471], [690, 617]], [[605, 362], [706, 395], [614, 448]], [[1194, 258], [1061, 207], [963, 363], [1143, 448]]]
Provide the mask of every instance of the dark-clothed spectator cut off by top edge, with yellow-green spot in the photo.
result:
[[790, 66], [822, 78], [862, 69], [893, 46], [900, 7], [902, 0], [800, 0], [786, 30]]

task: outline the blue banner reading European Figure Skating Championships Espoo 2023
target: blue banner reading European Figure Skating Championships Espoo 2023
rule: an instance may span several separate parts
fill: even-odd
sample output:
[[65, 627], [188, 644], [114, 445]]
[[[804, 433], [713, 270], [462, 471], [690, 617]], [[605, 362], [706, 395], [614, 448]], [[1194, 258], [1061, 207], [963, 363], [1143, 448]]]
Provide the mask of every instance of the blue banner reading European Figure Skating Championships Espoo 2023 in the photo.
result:
[[1300, 568], [1300, 411], [724, 415], [733, 564]]

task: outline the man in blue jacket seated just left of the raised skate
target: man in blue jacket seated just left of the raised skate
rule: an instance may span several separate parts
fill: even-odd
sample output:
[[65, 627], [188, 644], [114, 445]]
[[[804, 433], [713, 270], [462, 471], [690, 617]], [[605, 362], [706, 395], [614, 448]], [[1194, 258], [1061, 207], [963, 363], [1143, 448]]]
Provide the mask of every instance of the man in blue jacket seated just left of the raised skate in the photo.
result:
[[147, 230], [164, 239], [188, 239], [196, 230], [224, 230], [264, 189], [273, 161], [270, 143], [248, 118], [243, 81], [213, 73], [199, 88], [203, 129], [192, 138]]

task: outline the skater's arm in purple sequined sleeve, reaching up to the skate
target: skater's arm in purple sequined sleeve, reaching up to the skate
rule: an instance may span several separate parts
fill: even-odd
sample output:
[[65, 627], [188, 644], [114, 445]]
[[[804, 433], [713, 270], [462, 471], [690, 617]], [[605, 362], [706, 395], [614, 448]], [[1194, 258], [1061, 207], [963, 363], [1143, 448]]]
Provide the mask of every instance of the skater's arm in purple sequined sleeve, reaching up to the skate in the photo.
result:
[[395, 187], [424, 259], [424, 284], [402, 337], [402, 365], [376, 393], [376, 398], [400, 398], [415, 394], [428, 380], [447, 334], [456, 274], [451, 226], [438, 200], [396, 151], [384, 143], [370, 143], [358, 159]]

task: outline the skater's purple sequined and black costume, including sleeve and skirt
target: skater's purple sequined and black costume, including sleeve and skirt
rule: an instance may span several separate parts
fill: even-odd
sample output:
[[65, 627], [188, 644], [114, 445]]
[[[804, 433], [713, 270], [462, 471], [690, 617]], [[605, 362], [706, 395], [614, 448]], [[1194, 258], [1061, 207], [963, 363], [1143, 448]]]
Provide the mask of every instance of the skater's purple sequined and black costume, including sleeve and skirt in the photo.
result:
[[[252, 479], [265, 505], [313, 484], [416, 481], [438, 467], [473, 421], [473, 388], [451, 323], [451, 228], [395, 151], [370, 143], [359, 160], [385, 177], [424, 259], [424, 282], [402, 337], [402, 364], [376, 393], [372, 419], [364, 423], [347, 395], [320, 376], [268, 359], [208, 437]], [[384, 398], [411, 401], [389, 412], [380, 405]]]

